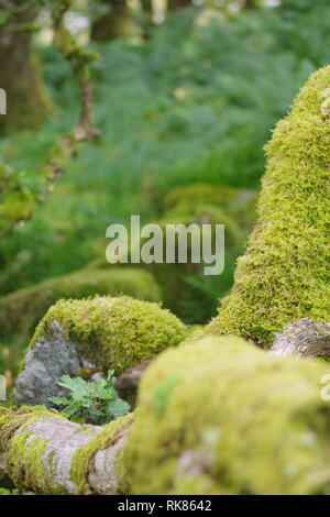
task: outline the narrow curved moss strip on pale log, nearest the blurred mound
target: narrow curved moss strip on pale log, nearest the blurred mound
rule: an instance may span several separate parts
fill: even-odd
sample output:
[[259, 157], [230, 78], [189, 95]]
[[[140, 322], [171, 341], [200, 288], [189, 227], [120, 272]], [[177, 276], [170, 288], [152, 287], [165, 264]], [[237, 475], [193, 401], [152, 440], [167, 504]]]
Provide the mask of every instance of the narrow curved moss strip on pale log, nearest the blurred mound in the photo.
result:
[[78, 494], [86, 494], [88, 492], [86, 476], [89, 472], [91, 459], [98, 451], [110, 447], [118, 438], [118, 435], [130, 426], [132, 418], [133, 415], [130, 414], [108, 424], [102, 431], [98, 432], [85, 447], [75, 453], [72, 462], [72, 480], [77, 486]]

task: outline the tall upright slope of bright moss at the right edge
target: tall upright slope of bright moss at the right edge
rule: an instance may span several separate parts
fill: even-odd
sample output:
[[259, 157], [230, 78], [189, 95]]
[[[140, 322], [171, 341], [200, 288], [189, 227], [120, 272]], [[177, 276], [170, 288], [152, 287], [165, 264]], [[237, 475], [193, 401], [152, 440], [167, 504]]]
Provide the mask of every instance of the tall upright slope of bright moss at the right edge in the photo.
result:
[[209, 333], [270, 346], [300, 318], [330, 317], [330, 67], [311, 75], [266, 145], [258, 220]]

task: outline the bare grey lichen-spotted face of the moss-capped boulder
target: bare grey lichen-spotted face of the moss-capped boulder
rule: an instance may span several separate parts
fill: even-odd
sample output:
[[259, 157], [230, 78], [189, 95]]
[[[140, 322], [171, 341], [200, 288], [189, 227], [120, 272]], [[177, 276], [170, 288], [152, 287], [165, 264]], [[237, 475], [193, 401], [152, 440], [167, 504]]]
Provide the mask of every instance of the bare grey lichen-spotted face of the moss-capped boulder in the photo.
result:
[[48, 397], [67, 395], [67, 391], [56, 384], [59, 377], [77, 377], [82, 367], [94, 365], [81, 356], [77, 343], [64, 339], [62, 327], [53, 321], [50, 332], [26, 354], [24, 370], [15, 384], [15, 403], [52, 407]]

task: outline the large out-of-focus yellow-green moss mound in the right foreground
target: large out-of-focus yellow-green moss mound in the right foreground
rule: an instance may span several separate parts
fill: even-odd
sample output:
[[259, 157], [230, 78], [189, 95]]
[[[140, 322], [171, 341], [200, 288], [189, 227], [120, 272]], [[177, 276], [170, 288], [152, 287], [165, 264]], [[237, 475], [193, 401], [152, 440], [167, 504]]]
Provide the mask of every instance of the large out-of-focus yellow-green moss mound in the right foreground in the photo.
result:
[[327, 371], [237, 337], [165, 351], [142, 378], [121, 458], [131, 493], [328, 494]]

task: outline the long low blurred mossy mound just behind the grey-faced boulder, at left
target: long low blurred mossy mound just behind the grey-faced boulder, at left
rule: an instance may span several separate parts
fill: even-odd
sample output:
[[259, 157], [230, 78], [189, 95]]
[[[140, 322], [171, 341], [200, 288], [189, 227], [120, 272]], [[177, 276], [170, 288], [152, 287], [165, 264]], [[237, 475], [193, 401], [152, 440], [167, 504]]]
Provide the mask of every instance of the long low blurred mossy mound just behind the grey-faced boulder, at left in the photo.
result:
[[[143, 270], [81, 270], [20, 289], [0, 298], [0, 336], [18, 336], [21, 341], [46, 310], [62, 298], [124, 294], [138, 299], [160, 301], [161, 292], [153, 276]], [[24, 315], [24, 317], [22, 317]]]

